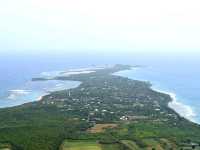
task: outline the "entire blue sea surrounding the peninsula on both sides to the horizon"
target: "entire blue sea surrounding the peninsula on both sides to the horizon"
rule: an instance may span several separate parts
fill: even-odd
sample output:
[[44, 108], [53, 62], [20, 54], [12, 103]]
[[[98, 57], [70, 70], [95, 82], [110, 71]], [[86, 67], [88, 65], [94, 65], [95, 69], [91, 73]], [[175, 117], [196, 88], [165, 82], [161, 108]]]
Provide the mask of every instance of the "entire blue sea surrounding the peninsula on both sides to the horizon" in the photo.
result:
[[33, 77], [51, 76], [59, 71], [105, 64], [144, 65], [118, 75], [150, 81], [154, 89], [170, 92], [172, 105], [184, 117], [200, 123], [200, 61], [137, 55], [0, 55], [0, 107], [37, 100], [49, 91], [78, 86], [72, 81], [32, 82]]

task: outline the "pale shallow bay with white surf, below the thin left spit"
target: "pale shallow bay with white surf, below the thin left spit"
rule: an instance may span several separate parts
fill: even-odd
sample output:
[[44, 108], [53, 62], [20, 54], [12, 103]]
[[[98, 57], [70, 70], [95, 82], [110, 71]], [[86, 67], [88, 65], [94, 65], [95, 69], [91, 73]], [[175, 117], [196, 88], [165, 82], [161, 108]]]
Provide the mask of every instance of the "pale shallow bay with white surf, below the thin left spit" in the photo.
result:
[[79, 85], [78, 81], [28, 81], [16, 88], [2, 90], [0, 108], [37, 101], [50, 92], [75, 88]]

